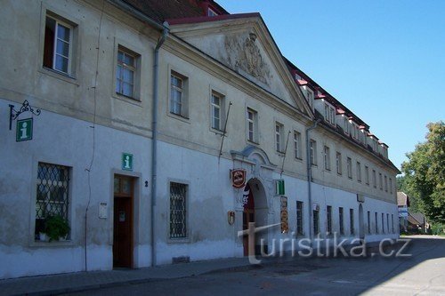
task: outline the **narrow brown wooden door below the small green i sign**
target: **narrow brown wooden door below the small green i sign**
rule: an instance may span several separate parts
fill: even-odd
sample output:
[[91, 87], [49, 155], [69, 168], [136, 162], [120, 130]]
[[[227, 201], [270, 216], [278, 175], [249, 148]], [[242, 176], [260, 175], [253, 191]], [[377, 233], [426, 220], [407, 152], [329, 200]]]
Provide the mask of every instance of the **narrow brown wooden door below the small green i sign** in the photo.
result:
[[133, 267], [133, 180], [115, 176], [113, 267]]

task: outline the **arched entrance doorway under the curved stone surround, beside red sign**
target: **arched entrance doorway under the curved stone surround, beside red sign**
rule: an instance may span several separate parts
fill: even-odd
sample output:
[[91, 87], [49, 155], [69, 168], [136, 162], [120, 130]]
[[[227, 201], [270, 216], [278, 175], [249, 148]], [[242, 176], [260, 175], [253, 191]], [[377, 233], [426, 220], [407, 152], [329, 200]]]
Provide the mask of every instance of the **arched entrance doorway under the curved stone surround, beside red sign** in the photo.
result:
[[[266, 193], [260, 180], [254, 178], [247, 182], [243, 193], [243, 230], [248, 229], [249, 223], [255, 222], [255, 228], [268, 224], [268, 205]], [[255, 254], [268, 252], [267, 230], [255, 233]], [[248, 254], [248, 236], [243, 237], [244, 255]]]

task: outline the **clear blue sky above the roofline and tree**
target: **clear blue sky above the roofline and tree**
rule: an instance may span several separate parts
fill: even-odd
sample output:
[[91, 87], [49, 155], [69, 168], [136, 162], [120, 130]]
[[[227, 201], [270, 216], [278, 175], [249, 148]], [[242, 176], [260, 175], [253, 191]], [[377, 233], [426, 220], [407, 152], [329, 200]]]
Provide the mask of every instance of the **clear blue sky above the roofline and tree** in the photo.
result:
[[445, 1], [216, 2], [260, 12], [281, 53], [369, 124], [397, 167], [445, 120]]

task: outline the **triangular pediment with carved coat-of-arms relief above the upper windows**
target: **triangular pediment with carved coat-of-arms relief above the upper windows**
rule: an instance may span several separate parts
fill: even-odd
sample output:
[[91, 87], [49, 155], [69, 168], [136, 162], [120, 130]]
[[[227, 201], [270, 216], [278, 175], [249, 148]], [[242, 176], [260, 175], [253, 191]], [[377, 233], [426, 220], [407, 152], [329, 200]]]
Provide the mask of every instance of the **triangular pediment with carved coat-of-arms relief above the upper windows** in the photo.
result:
[[303, 93], [258, 13], [173, 20], [171, 32], [279, 100], [312, 116]]

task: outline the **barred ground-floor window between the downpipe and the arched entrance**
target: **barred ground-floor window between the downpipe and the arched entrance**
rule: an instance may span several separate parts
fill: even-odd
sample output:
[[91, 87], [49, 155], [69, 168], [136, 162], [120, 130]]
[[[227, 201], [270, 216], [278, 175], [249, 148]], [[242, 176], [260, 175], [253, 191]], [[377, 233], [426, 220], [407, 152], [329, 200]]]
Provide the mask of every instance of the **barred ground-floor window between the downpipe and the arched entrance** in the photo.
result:
[[170, 238], [187, 237], [187, 185], [170, 183]]

